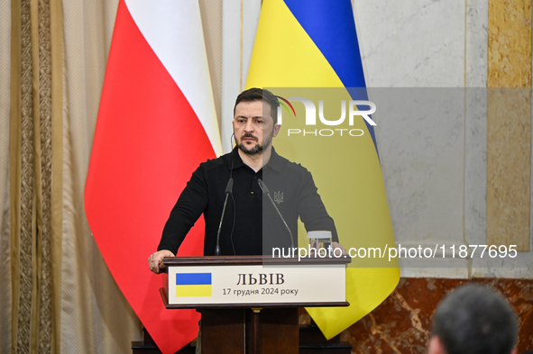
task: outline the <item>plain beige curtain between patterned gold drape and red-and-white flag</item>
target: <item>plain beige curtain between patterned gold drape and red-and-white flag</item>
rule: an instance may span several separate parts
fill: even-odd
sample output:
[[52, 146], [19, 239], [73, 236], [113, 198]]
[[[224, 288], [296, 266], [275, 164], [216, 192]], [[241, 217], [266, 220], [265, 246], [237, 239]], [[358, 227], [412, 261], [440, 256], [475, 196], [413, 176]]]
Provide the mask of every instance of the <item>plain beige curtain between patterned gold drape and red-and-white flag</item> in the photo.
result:
[[141, 323], [96, 247], [83, 206], [117, 5], [63, 1], [62, 353], [131, 353], [131, 341], [141, 339]]

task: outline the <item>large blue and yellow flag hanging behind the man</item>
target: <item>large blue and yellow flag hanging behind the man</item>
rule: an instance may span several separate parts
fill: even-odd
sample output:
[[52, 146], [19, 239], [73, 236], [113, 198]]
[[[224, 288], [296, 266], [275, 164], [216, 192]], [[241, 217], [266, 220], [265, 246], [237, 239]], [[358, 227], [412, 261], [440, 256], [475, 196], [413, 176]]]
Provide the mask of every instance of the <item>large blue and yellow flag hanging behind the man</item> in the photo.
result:
[[[355, 99], [351, 87], [365, 87], [365, 82], [350, 0], [264, 0], [246, 87], [340, 87], [346, 102]], [[283, 117], [273, 145], [311, 171], [346, 250], [394, 247], [372, 126], [359, 118], [350, 129], [361, 129], [362, 135], [345, 132], [333, 139], [317, 133], [289, 137]], [[320, 143], [326, 138], [332, 139]], [[396, 267], [348, 268], [350, 306], [308, 308], [308, 313], [330, 339], [381, 304], [399, 280]]]

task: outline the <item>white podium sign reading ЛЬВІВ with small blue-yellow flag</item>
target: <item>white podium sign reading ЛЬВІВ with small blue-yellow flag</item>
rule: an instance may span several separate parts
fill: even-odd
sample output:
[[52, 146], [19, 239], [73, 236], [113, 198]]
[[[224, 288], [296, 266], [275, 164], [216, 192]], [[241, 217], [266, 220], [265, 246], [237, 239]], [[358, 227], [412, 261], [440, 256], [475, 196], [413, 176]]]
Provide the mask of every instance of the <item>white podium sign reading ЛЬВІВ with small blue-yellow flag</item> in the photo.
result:
[[345, 259], [169, 258], [167, 308], [346, 306]]

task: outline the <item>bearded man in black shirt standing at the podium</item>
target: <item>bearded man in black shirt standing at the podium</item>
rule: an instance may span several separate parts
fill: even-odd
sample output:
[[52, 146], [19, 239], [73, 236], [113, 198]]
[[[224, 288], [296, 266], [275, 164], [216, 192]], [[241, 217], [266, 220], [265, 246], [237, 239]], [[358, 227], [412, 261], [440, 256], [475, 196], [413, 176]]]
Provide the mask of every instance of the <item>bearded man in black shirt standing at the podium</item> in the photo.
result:
[[307, 231], [331, 231], [332, 247], [345, 253], [311, 174], [272, 147], [280, 132], [279, 105], [275, 95], [260, 88], [237, 96], [235, 148], [192, 174], [170, 212], [158, 251], [148, 259], [154, 273], [161, 272], [163, 258], [175, 256], [202, 213], [206, 256], [271, 255], [274, 247], [296, 254], [299, 218]]

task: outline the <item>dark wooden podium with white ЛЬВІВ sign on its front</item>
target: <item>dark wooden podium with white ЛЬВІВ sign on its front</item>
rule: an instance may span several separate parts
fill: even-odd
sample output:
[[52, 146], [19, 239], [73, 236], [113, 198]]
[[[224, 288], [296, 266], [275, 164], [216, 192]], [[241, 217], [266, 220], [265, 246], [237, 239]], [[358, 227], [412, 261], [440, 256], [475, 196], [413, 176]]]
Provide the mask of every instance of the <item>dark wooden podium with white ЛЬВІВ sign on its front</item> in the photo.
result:
[[299, 352], [299, 307], [347, 306], [349, 258], [166, 258], [168, 309], [202, 313], [202, 353]]

